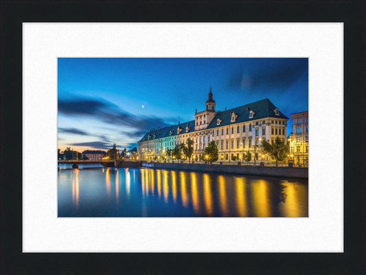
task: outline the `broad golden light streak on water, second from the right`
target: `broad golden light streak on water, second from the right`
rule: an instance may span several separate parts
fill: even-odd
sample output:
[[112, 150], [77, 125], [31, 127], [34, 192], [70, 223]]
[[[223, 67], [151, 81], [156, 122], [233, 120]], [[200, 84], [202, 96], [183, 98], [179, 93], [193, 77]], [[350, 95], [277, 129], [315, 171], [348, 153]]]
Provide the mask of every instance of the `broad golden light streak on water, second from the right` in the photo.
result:
[[271, 203], [268, 198], [268, 187], [266, 181], [259, 179], [252, 186], [253, 210], [255, 217], [271, 217]]

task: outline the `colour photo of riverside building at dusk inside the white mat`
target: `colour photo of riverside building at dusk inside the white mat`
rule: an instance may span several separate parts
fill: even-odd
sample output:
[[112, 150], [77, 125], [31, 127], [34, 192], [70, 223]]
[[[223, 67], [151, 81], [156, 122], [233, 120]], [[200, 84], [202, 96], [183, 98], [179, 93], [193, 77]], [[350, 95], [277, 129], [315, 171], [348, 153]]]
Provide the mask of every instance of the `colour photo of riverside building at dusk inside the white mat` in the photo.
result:
[[308, 58], [58, 58], [58, 217], [308, 217], [308, 89]]

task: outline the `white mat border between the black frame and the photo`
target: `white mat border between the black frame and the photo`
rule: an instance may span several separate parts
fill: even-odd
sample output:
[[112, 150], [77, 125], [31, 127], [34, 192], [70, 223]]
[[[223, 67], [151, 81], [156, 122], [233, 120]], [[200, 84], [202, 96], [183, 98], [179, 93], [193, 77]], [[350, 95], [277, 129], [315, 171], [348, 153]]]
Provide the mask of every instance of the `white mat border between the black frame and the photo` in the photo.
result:
[[[308, 57], [309, 217], [57, 218], [58, 57]], [[343, 23], [23, 23], [23, 252], [343, 252], [342, 159]]]

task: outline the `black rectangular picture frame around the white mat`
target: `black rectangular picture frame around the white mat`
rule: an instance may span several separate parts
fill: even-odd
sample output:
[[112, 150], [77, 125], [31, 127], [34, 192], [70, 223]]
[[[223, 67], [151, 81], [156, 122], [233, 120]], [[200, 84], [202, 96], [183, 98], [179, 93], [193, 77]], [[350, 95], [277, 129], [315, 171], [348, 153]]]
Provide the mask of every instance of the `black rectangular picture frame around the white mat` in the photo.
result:
[[[1, 1], [1, 274], [365, 274], [365, 8], [365, 1]], [[22, 253], [23, 22], [343, 22], [344, 252]]]

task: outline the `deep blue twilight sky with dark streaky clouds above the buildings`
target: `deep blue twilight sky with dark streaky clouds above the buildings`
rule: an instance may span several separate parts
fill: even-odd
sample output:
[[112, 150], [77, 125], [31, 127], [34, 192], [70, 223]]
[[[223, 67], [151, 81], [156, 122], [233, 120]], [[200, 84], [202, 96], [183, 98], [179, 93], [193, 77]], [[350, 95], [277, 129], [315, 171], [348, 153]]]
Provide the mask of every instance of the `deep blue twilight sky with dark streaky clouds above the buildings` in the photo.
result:
[[58, 58], [58, 148], [132, 149], [194, 120], [210, 86], [219, 111], [268, 98], [290, 118], [308, 111], [308, 58]]

